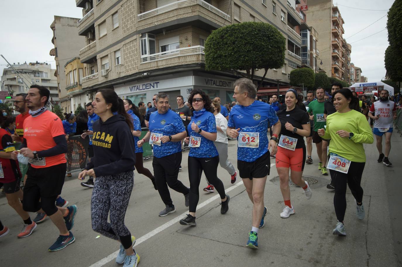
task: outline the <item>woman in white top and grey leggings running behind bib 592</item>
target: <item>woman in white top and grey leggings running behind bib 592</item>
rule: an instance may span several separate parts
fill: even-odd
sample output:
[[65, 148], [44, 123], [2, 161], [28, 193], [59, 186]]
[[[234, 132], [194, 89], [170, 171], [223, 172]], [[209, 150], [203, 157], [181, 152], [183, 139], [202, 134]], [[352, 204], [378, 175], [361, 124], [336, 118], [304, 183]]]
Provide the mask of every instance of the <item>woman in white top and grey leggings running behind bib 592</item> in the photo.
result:
[[[219, 154], [219, 165], [226, 169], [230, 174], [230, 183], [236, 182], [237, 172], [234, 169], [232, 163], [228, 159], [228, 136], [226, 135], [226, 129], [228, 128], [228, 121], [220, 113], [220, 105], [217, 100], [213, 100], [211, 104], [213, 109], [213, 115], [215, 116], [216, 123], [216, 140], [213, 142], [218, 154]], [[207, 180], [208, 183], [208, 180]], [[213, 185], [208, 183], [207, 187], [204, 188], [205, 192], [214, 192]]]

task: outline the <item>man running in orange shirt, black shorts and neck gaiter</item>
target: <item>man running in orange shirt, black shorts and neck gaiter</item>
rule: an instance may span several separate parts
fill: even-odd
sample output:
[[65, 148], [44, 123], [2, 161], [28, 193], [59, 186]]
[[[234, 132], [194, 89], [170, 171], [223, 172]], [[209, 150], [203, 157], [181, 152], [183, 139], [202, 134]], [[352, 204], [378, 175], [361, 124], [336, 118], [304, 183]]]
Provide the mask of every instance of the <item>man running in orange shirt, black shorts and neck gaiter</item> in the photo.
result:
[[24, 143], [20, 151], [12, 151], [11, 158], [17, 159], [18, 153], [29, 157], [23, 208], [27, 212], [44, 212], [51, 218], [60, 236], [49, 251], [58, 251], [75, 240], [70, 230], [74, 226], [77, 207], [55, 205], [66, 175], [64, 153], [67, 142], [62, 121], [46, 108], [49, 96], [50, 92], [44, 86], [34, 84], [30, 87], [26, 101], [31, 116], [24, 121]]

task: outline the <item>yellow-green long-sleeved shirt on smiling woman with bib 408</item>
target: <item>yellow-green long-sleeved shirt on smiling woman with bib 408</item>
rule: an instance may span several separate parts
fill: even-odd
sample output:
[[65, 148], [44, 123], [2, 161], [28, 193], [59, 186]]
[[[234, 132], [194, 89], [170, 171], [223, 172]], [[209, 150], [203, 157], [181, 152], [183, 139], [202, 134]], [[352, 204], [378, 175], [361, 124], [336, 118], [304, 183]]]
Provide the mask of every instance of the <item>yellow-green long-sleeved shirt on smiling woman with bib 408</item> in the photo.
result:
[[[353, 137], [340, 137], [336, 132], [353, 132]], [[326, 118], [324, 139], [331, 139], [329, 151], [354, 162], [366, 162], [363, 143], [374, 142], [373, 132], [366, 116], [356, 110], [346, 113], [335, 112]]]

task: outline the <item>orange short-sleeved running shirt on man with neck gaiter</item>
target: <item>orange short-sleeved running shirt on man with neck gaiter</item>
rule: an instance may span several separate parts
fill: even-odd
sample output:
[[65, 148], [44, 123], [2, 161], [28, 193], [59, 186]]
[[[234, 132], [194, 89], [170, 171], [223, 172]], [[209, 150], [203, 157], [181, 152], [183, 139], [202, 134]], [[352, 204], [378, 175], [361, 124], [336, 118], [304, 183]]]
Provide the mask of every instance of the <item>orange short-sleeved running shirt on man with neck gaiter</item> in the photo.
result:
[[[24, 121], [24, 138], [27, 147], [32, 151], [42, 151], [55, 147], [53, 137], [64, 135], [62, 120], [53, 112], [46, 110], [37, 117], [29, 116]], [[66, 156], [59, 154], [51, 157], [39, 158], [40, 163], [33, 168], [46, 168], [66, 163]]]

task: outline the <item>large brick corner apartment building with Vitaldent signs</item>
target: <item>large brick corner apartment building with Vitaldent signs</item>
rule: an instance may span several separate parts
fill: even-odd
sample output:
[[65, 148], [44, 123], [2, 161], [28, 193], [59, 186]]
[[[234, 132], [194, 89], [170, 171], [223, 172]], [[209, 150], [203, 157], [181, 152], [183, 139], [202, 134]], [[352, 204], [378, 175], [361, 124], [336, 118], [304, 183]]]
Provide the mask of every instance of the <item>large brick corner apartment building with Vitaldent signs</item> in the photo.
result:
[[[78, 34], [84, 66], [82, 88], [93, 96], [114, 88], [134, 103], [148, 102], [156, 92], [185, 98], [193, 88], [231, 102], [229, 71], [205, 71], [204, 45], [214, 29], [245, 21], [267, 22], [287, 39], [285, 65], [270, 69], [265, 86], [289, 83], [301, 67], [299, 0], [76, 0], [83, 8]], [[262, 76], [262, 71], [257, 75]], [[171, 101], [174, 108], [175, 101]]]

